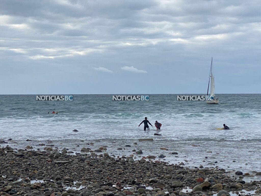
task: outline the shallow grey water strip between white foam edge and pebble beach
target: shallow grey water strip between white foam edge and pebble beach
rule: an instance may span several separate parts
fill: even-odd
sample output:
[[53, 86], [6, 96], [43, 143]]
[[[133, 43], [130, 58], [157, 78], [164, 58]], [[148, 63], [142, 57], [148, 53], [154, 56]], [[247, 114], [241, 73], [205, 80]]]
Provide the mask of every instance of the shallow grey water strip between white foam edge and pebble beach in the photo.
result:
[[[28, 141], [27, 141], [28, 140]], [[81, 149], [91, 148], [90, 151], [98, 149], [101, 146], [106, 146], [106, 152], [112, 157], [121, 155], [134, 155], [134, 159], [138, 160], [142, 157], [155, 156], [155, 160], [169, 162], [169, 164], [184, 163], [186, 167], [194, 168], [194, 166], [215, 167], [224, 168], [229, 171], [241, 170], [244, 173], [255, 174], [255, 171], [260, 171], [260, 164], [256, 155], [258, 152], [254, 152], [254, 149], [249, 147], [249, 142], [241, 142], [241, 151], [233, 151], [238, 148], [238, 142], [229, 143], [226, 142], [185, 142], [175, 141], [168, 142], [161, 140], [153, 141], [138, 141], [132, 139], [126, 140], [10, 140], [6, 141], [5, 145], [11, 145], [17, 149], [33, 149], [43, 151], [45, 147], [52, 147], [59, 151], [63, 148], [67, 148], [68, 153], [75, 154], [81, 153]], [[0, 141], [1, 145], [1, 141]], [[229, 147], [229, 148], [228, 148]], [[163, 148], [163, 149], [161, 149]], [[142, 150], [143, 154], [136, 154], [136, 151]], [[261, 180], [261, 176], [257, 176]], [[256, 179], [255, 179], [256, 180]]]

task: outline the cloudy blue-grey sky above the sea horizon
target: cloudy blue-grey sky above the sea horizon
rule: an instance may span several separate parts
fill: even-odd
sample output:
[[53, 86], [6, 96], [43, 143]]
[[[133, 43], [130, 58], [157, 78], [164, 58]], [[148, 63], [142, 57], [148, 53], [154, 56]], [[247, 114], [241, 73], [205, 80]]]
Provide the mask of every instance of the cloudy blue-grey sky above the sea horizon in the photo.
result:
[[259, 0], [2, 0], [0, 94], [261, 93]]

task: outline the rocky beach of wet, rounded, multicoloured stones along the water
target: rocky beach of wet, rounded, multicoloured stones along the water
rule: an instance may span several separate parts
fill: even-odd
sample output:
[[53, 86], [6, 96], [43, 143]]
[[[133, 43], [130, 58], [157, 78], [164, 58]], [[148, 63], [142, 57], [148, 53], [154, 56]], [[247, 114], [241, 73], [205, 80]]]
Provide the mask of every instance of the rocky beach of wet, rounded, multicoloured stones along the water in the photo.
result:
[[251, 180], [261, 174], [257, 171], [188, 168], [160, 161], [161, 155], [142, 157], [142, 150], [113, 155], [108, 146], [86, 146], [72, 154], [45, 144], [39, 145], [43, 150], [0, 145], [1, 196], [261, 195], [259, 178]]

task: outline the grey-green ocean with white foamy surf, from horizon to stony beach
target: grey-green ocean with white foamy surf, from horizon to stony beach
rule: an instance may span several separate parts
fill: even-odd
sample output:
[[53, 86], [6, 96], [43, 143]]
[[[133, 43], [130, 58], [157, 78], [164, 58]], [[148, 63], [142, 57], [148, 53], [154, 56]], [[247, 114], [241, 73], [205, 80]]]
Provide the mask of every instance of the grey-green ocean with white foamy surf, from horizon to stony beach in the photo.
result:
[[[112, 101], [112, 95], [36, 101], [36, 95], [0, 95], [0, 140], [12, 139], [8, 145], [17, 149], [29, 145], [43, 150], [54, 145], [77, 153], [82, 147], [107, 146], [106, 152], [120, 157], [155, 155], [156, 160], [186, 167], [261, 171], [260, 94], [217, 96], [219, 104], [177, 101], [175, 94], [152, 94], [150, 101]], [[144, 117], [153, 125], [157, 120], [162, 129], [144, 131], [143, 125], [138, 127]], [[224, 123], [229, 130], [216, 130]], [[138, 141], [151, 138], [154, 141]], [[46, 146], [39, 146], [41, 143]], [[138, 149], [143, 154], [135, 154], [133, 150]], [[161, 154], [166, 157], [158, 158]]]

